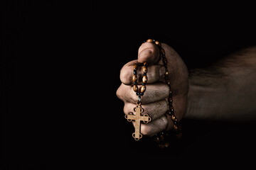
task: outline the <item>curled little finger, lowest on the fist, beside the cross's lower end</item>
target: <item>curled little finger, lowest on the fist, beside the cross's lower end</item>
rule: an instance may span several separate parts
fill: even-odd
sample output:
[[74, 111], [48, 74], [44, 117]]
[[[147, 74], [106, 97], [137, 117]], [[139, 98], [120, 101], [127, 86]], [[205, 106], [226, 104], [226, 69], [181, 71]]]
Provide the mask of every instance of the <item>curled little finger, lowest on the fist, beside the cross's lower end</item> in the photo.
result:
[[[141, 124], [141, 133], [146, 136], [154, 136], [156, 133], [161, 132], [162, 130], [166, 130], [168, 120], [166, 115], [162, 115], [160, 118], [147, 123]], [[132, 124], [135, 125], [135, 121], [132, 121]]]

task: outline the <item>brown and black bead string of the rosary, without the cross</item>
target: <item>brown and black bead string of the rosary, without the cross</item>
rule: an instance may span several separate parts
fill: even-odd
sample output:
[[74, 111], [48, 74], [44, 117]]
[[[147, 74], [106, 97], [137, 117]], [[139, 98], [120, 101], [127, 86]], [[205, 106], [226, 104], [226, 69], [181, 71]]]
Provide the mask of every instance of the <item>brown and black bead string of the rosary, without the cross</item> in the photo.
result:
[[[161, 43], [157, 40], [148, 39], [144, 42], [152, 42], [152, 43], [156, 44], [157, 47], [159, 47], [160, 59], [164, 63], [164, 68], [165, 68], [164, 79], [165, 79], [166, 84], [169, 86], [169, 97], [167, 99], [168, 105], [169, 105], [169, 111], [166, 112], [166, 115], [171, 116], [171, 120], [174, 123], [173, 130], [176, 133], [176, 137], [180, 138], [182, 136], [181, 125], [178, 123], [178, 119], [176, 118], [175, 113], [174, 113], [172, 91], [171, 91], [171, 81], [169, 80], [169, 72], [168, 72], [168, 68], [167, 68], [167, 59], [165, 56], [165, 50], [161, 47]], [[134, 65], [134, 69], [133, 69], [134, 76], [132, 77], [132, 79], [133, 79], [133, 83], [134, 83], [133, 89], [136, 92], [137, 96], [139, 96], [139, 98], [140, 98], [141, 96], [143, 96], [144, 92], [146, 91], [146, 81], [147, 81], [146, 72], [147, 72], [148, 64], [146, 64], [146, 62], [144, 62], [144, 64], [143, 64], [142, 88], [140, 89], [140, 91], [138, 90], [138, 86], [137, 86], [137, 67], [138, 67], [138, 65], [139, 64]], [[169, 147], [169, 142], [166, 141], [166, 137], [168, 135], [169, 135], [169, 132], [164, 130], [154, 136], [156, 145], [159, 148], [164, 149], [166, 147]]]

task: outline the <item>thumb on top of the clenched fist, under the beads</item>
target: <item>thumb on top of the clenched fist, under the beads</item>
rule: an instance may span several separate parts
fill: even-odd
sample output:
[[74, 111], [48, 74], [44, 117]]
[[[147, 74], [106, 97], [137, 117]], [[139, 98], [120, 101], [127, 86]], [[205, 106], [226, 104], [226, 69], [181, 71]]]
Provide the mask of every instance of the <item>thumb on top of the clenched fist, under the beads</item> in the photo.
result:
[[139, 47], [138, 62], [148, 62], [149, 64], [159, 62], [159, 47], [154, 43], [144, 42]]

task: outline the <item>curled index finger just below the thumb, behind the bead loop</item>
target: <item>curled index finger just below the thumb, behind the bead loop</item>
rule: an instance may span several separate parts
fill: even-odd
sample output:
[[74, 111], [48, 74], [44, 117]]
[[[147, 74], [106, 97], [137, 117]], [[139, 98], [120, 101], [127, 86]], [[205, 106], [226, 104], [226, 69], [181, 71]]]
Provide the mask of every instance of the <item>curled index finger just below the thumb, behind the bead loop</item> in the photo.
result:
[[[137, 63], [137, 60], [133, 60], [132, 62], [128, 62], [127, 64], [122, 67], [121, 72], [120, 72], [120, 80], [122, 81], [123, 84], [126, 85], [132, 85], [132, 77], [133, 77], [133, 67], [134, 64]], [[159, 81], [159, 79], [164, 77], [165, 69], [163, 65], [151, 65], [147, 67], [147, 73], [146, 77], [148, 79], [147, 83], [154, 83], [156, 81]], [[137, 83], [142, 84], [142, 77], [143, 77], [143, 72], [142, 72], [142, 67], [138, 67], [137, 69]]]

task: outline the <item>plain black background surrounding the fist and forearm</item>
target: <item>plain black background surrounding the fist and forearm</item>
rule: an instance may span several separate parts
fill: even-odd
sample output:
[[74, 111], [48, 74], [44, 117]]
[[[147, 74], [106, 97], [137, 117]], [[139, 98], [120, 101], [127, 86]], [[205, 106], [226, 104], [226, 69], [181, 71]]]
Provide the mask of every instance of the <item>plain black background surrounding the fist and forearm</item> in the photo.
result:
[[252, 7], [214, 1], [2, 3], [3, 168], [253, 166], [254, 122], [184, 119], [183, 139], [158, 151], [146, 137], [133, 140], [115, 95], [119, 70], [148, 38], [174, 47], [189, 69], [255, 45]]

